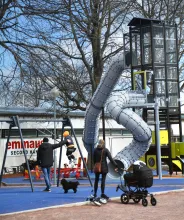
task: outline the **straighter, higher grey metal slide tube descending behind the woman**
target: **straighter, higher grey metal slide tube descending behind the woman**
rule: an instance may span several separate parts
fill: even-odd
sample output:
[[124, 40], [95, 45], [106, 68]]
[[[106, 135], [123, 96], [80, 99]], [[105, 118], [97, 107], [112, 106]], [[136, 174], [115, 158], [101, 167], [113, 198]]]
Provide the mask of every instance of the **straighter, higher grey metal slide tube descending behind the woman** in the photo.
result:
[[123, 59], [124, 56], [119, 55], [112, 61], [112, 65], [107, 74], [102, 77], [91, 102], [86, 109], [83, 142], [88, 152], [91, 152], [91, 146], [93, 146], [93, 152], [93, 149], [97, 144], [100, 113], [124, 70]]

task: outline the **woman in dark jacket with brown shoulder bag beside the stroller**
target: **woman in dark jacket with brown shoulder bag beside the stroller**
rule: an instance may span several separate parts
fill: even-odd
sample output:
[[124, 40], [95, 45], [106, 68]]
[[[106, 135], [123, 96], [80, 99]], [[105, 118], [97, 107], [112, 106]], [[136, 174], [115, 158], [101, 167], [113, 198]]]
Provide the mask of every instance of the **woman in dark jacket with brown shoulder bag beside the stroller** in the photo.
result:
[[[101, 160], [102, 158], [102, 160]], [[101, 198], [109, 199], [108, 196], [105, 195], [105, 180], [108, 173], [108, 166], [107, 166], [107, 158], [110, 162], [114, 165], [114, 169], [117, 172], [118, 166], [116, 162], [113, 160], [110, 151], [105, 148], [104, 140], [99, 140], [97, 147], [94, 150], [93, 161], [94, 164], [101, 161], [101, 173], [95, 173], [95, 184], [94, 184], [94, 197], [97, 196], [98, 190], [98, 182], [100, 174], [102, 175], [101, 179]]]

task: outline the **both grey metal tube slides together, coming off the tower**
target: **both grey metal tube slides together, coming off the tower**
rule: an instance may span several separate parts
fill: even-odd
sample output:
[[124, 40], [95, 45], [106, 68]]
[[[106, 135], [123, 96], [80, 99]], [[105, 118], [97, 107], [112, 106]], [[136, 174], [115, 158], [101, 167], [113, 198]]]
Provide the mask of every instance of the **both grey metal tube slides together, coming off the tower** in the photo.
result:
[[[106, 105], [106, 109], [111, 117], [118, 124], [127, 128], [133, 135], [132, 142], [114, 157], [120, 168], [128, 169], [131, 164], [143, 156], [149, 149], [151, 129], [131, 109], [134, 105], [141, 106], [146, 103], [144, 92], [113, 91], [124, 69], [124, 56], [119, 55], [112, 61], [108, 72], [101, 79], [86, 110], [83, 141], [86, 150], [93, 153], [93, 149], [98, 142], [100, 113], [102, 107]], [[113, 165], [109, 163], [108, 167], [109, 176], [111, 178], [118, 178], [119, 174], [114, 171]]]

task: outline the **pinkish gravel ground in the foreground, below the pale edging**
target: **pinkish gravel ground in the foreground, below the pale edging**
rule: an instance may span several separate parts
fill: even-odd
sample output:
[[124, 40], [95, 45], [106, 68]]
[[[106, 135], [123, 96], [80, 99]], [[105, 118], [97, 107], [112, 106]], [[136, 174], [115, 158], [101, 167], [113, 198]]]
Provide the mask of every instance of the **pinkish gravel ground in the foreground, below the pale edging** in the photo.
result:
[[1, 220], [183, 220], [184, 192], [175, 191], [156, 194], [157, 205], [149, 202], [147, 207], [141, 203], [130, 201], [124, 205], [120, 200], [109, 201], [101, 207], [82, 205], [75, 207], [60, 207], [41, 211], [26, 212], [0, 216]]

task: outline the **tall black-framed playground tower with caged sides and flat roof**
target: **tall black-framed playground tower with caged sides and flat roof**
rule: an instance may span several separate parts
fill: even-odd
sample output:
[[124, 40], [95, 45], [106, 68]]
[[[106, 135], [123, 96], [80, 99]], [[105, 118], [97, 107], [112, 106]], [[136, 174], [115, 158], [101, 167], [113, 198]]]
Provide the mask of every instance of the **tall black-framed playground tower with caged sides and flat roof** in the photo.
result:
[[[178, 125], [179, 141], [182, 141], [177, 26], [145, 18], [133, 18], [128, 26], [129, 33], [124, 35], [124, 48], [130, 50], [132, 89], [145, 89], [148, 103], [158, 101], [160, 132], [164, 130], [167, 136], [167, 141], [161, 143], [161, 155], [166, 158], [165, 162], [172, 174], [173, 124]], [[148, 124], [155, 126], [154, 108], [145, 108], [142, 116]], [[156, 155], [156, 139], [153, 137], [154, 141], [145, 157]]]

